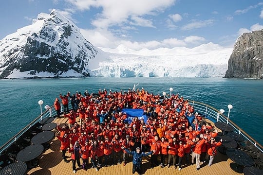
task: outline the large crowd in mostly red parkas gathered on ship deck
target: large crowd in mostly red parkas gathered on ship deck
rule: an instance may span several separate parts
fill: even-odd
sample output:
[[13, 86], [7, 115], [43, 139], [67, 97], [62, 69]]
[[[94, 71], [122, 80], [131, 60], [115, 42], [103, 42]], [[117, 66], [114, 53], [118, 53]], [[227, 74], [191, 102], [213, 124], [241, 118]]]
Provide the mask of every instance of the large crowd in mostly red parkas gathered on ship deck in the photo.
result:
[[[99, 89], [97, 94], [76, 91], [60, 94], [59, 98], [63, 114], [56, 98], [56, 117], [68, 118], [68, 124], [60, 127], [57, 123], [60, 133], [56, 137], [61, 141], [65, 162], [69, 162], [66, 152], [71, 153], [74, 173], [76, 163], [87, 171], [89, 157], [98, 171], [122, 162], [125, 166], [132, 155], [132, 173], [140, 174], [142, 157], [150, 154], [151, 168], [178, 166], [181, 171], [182, 162], [193, 165], [195, 161], [199, 170], [201, 162], [212, 165], [216, 147], [221, 145], [222, 140], [215, 141], [217, 130], [203, 122], [201, 115], [179, 94], [161, 98], [144, 88], [109, 93]], [[124, 108], [143, 109], [147, 121], [134, 116], [128, 123]]]

